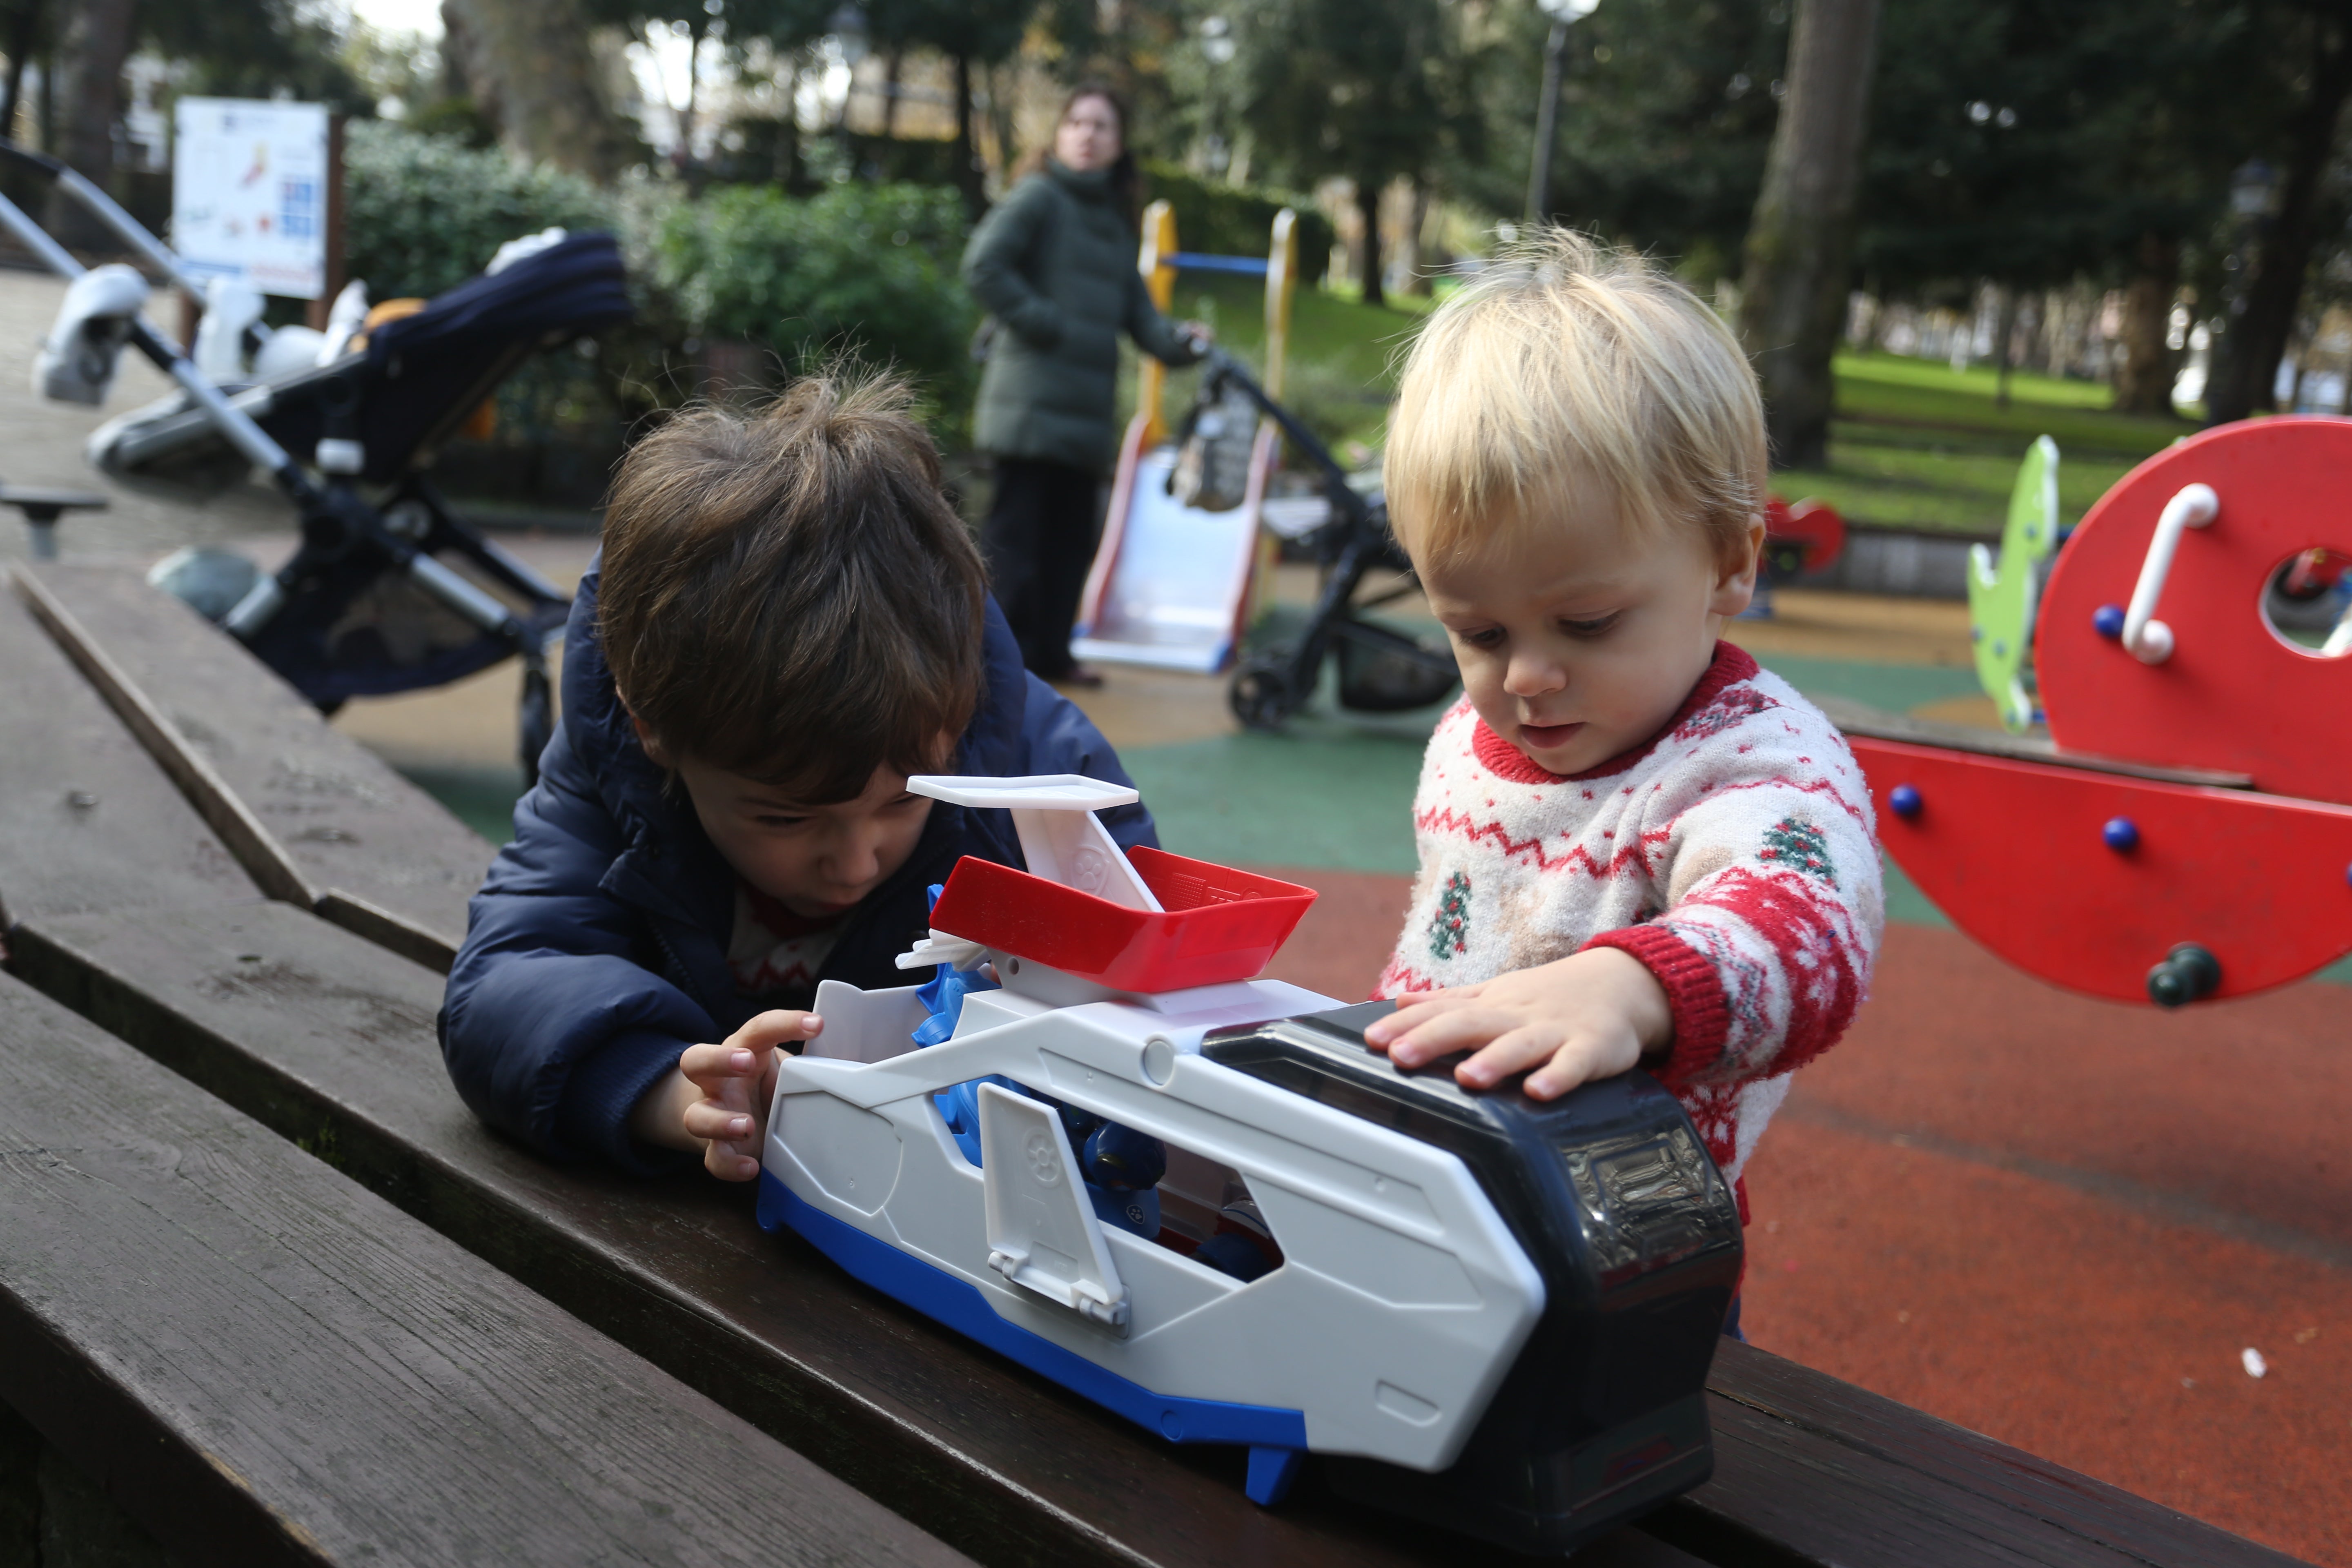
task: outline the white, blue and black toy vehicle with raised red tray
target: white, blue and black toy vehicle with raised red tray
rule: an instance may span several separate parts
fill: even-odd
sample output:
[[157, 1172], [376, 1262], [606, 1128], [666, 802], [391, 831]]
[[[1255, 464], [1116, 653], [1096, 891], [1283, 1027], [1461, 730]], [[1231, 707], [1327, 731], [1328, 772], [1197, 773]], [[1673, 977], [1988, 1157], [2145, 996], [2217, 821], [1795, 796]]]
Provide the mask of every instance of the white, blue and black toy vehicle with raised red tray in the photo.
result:
[[[908, 788], [1014, 811], [1033, 870], [962, 860], [901, 957], [1000, 990], [943, 987], [953, 1037], [917, 1048], [917, 987], [823, 983], [762, 1225], [1171, 1441], [1244, 1443], [1258, 1502], [1312, 1450], [1343, 1495], [1564, 1552], [1708, 1479], [1740, 1222], [1670, 1093], [1397, 1072], [1359, 1034], [1385, 1001], [1247, 978], [1312, 891], [1129, 860], [1094, 811], [1136, 795], [1101, 780]], [[1070, 1126], [1105, 1121], [1164, 1145], [1155, 1187], [1087, 1180]], [[1237, 1222], [1263, 1262], [1230, 1262]]]

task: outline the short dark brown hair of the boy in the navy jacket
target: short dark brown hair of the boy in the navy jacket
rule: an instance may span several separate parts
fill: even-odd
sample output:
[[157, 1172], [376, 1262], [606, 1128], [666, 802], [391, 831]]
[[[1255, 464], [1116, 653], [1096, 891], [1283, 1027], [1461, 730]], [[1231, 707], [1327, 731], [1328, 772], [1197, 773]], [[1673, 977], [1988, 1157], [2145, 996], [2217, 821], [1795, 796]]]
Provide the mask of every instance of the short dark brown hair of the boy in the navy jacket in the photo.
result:
[[823, 371], [755, 416], [680, 414], [621, 463], [597, 630], [668, 757], [804, 804], [946, 766], [981, 701], [985, 571], [908, 402]]

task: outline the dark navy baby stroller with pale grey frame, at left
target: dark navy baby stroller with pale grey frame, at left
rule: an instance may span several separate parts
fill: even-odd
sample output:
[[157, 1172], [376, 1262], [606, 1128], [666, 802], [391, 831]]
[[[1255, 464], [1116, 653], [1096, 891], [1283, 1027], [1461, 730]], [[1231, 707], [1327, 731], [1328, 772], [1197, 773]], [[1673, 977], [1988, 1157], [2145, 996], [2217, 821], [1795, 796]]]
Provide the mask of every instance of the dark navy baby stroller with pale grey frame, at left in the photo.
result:
[[[205, 282], [78, 172], [7, 143], [0, 155], [52, 176], [134, 254], [205, 299]], [[520, 658], [522, 771], [534, 783], [555, 729], [546, 642], [569, 599], [456, 517], [426, 468], [529, 355], [628, 320], [612, 235], [553, 240], [376, 324], [365, 346], [325, 364], [221, 386], [141, 317], [146, 280], [134, 268], [85, 268], [5, 197], [0, 223], [73, 282], [35, 371], [47, 395], [103, 402], [125, 346], [179, 383], [174, 397], [92, 433], [94, 465], [122, 484], [176, 494], [221, 489], [261, 465], [294, 503], [301, 545], [278, 574], [207, 552], [212, 583], [186, 574], [165, 585], [325, 712]], [[223, 590], [221, 567], [245, 581]]]

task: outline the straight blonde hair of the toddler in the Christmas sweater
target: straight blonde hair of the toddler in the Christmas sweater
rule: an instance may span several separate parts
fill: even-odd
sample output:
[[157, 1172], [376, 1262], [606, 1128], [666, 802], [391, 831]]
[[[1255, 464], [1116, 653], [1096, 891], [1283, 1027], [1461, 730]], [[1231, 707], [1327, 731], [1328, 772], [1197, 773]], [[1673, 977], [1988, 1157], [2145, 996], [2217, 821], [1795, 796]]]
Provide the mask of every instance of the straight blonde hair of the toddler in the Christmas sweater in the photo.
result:
[[1740, 559], [1764, 510], [1764, 402], [1715, 310], [1566, 228], [1508, 244], [1414, 341], [1385, 484], [1416, 552], [1458, 557], [1602, 484], [1637, 529]]

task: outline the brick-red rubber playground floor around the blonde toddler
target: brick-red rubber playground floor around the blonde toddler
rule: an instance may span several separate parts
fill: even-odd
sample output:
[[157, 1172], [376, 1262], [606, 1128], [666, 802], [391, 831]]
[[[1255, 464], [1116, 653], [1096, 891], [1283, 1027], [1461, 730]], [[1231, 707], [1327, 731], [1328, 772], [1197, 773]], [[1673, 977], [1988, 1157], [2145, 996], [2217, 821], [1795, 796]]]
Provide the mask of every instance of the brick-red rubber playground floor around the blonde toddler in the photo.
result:
[[[1275, 973], [1362, 997], [1409, 879], [1282, 875], [1324, 896]], [[2352, 1566], [2347, 1004], [2126, 1009], [1891, 926], [1750, 1166], [1748, 1338]]]

